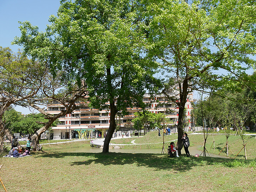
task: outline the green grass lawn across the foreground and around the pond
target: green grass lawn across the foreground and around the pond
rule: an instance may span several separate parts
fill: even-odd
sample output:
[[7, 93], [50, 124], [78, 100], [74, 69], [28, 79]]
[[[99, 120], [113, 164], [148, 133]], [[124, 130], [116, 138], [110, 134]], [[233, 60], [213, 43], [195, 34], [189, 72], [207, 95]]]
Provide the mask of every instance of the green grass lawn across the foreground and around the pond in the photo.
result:
[[[111, 143], [121, 141], [130, 143], [134, 139], [135, 143], [162, 142], [162, 137], [154, 138], [151, 134], [154, 132], [136, 139], [114, 139]], [[167, 136], [165, 141], [176, 138], [175, 135]], [[189, 138], [193, 144], [203, 141], [202, 135], [189, 135]], [[225, 145], [225, 136], [218, 135], [214, 138], [220, 146]], [[212, 137], [208, 139], [209, 148], [212, 144], [211, 139]], [[239, 152], [242, 148], [241, 143], [239, 144], [241, 139], [239, 139], [238, 136], [234, 136], [234, 138], [230, 136], [230, 150], [234, 150], [233, 153], [237, 150]], [[255, 141], [250, 137], [247, 141], [248, 148], [254, 155], [254, 157], [248, 158], [249, 160], [242, 157], [242, 152], [238, 159], [186, 158], [184, 156], [169, 158], [164, 154], [65, 153], [56, 151], [63, 148], [89, 146], [89, 141], [52, 144], [44, 146], [44, 152], [34, 153], [30, 157], [1, 158], [3, 166], [0, 176], [9, 192], [251, 192], [256, 191]], [[231, 147], [231, 143], [234, 143], [234, 149]], [[155, 144], [155, 147], [157, 146], [161, 149], [162, 144]], [[216, 147], [216, 153], [221, 149]], [[0, 187], [0, 191], [4, 191], [2, 187]]]

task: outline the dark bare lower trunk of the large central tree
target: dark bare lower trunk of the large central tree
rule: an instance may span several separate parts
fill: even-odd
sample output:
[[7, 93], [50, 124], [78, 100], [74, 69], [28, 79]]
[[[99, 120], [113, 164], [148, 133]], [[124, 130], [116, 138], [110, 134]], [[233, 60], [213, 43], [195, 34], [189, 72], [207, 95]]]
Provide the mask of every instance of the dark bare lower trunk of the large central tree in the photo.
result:
[[108, 153], [109, 152], [109, 144], [110, 140], [112, 138], [112, 135], [116, 129], [116, 108], [114, 105], [114, 102], [110, 103], [110, 126], [108, 128], [107, 135], [105, 137], [102, 153]]

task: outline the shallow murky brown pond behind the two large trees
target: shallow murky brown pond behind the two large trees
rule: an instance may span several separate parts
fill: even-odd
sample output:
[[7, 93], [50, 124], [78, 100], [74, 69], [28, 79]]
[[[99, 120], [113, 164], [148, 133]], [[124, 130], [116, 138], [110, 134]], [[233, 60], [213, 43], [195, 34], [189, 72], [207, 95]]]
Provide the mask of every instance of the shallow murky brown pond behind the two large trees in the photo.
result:
[[[198, 150], [198, 148], [202, 149], [202, 145], [196, 144], [196, 145], [188, 148], [191, 156], [194, 156], [195, 154], [200, 155], [202, 153], [202, 150]], [[165, 150], [167, 151], [167, 148]], [[101, 153], [102, 149], [97, 148], [97, 147], [79, 147], [79, 148], [59, 149], [58, 151], [59, 152], [68, 152], [68, 153]], [[162, 149], [110, 149], [110, 152], [116, 152], [116, 153], [161, 153]], [[185, 154], [184, 148], [182, 148], [181, 153]], [[209, 156], [209, 155], [207, 154], [206, 156]], [[211, 157], [220, 157], [219, 155], [215, 155], [215, 154], [210, 154], [210, 156]]]

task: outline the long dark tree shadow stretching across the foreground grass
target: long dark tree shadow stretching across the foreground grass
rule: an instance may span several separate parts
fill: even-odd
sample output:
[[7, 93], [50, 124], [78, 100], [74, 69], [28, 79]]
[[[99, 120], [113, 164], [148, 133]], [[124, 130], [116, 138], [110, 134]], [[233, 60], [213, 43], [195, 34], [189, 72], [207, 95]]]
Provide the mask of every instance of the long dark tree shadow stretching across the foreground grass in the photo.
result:
[[[175, 170], [188, 171], [194, 166], [212, 165], [216, 167], [256, 167], [256, 160], [238, 160], [210, 157], [184, 157], [170, 158], [163, 154], [145, 154], [145, 153], [44, 153], [36, 158], [77, 158], [84, 157], [83, 161], [74, 161], [70, 166], [102, 164], [102, 165], [126, 165], [135, 164], [136, 166], [145, 166], [156, 170]], [[81, 159], [81, 158], [79, 158]]]

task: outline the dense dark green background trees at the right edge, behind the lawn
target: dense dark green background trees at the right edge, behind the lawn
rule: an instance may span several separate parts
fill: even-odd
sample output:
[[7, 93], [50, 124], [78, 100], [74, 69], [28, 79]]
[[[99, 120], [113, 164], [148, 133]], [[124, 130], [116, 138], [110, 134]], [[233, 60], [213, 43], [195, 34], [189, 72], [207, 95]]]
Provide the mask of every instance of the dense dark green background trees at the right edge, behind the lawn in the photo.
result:
[[198, 126], [203, 126], [204, 119], [208, 127], [233, 127], [234, 130], [250, 127], [253, 130], [256, 114], [255, 95], [253, 89], [245, 86], [241, 88], [241, 92], [226, 91], [226, 98], [212, 95], [211, 98], [198, 101], [192, 110], [192, 117]]

